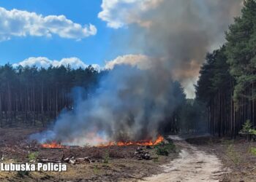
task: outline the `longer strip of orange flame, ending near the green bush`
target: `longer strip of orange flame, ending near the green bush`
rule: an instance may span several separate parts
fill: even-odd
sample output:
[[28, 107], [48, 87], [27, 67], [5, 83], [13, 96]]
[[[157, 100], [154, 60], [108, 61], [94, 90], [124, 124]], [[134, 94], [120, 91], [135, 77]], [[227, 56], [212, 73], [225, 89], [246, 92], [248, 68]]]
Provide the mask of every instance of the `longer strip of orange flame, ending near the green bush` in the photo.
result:
[[109, 142], [109, 143], [102, 143], [99, 147], [105, 146], [155, 146], [158, 143], [164, 141], [162, 136], [159, 136], [156, 141], [119, 141], [119, 142]]

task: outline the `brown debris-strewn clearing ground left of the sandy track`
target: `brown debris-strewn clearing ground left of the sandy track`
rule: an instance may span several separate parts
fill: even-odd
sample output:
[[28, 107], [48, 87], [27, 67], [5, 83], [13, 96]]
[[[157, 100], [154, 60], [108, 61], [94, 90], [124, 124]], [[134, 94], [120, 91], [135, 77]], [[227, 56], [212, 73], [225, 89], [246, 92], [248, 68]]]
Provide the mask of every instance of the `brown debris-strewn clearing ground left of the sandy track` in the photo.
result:
[[138, 160], [138, 146], [69, 147], [64, 149], [42, 149], [38, 143], [27, 141], [30, 134], [42, 128], [0, 129], [0, 162], [34, 162], [30, 154], [38, 159], [59, 160], [63, 157], [89, 157], [91, 163], [68, 164], [67, 172], [0, 172], [0, 181], [138, 181], [149, 175], [162, 172], [160, 165], [167, 164], [178, 154], [158, 156], [154, 148], [143, 147], [150, 160]]

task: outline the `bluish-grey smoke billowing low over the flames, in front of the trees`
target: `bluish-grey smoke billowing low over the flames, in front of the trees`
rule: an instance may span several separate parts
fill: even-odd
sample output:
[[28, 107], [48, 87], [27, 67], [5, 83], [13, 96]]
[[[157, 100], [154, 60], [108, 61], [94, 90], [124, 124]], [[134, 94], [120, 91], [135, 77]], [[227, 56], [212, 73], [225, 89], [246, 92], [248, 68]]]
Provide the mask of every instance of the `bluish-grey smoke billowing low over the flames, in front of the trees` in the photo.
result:
[[180, 105], [175, 84], [162, 72], [116, 66], [89, 98], [59, 116], [53, 130], [32, 138], [76, 145], [99, 144], [94, 141], [99, 136], [105, 141], [156, 138], [159, 122]]

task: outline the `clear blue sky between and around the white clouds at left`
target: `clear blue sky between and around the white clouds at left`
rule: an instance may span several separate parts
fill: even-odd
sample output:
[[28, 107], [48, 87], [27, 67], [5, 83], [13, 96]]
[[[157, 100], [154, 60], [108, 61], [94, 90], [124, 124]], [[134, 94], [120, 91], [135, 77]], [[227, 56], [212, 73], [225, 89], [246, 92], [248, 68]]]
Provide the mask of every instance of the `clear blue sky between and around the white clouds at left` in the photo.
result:
[[13, 36], [10, 40], [0, 41], [0, 64], [18, 63], [30, 57], [46, 57], [50, 60], [77, 57], [86, 64], [103, 65], [105, 60], [112, 60], [118, 55], [130, 53], [129, 50], [113, 50], [113, 36], [127, 33], [126, 28], [108, 28], [107, 23], [98, 18], [101, 0], [1, 0], [0, 7], [35, 12], [43, 17], [65, 15], [67, 19], [80, 25], [91, 23], [97, 28], [97, 34], [80, 41], [63, 39], [53, 35]]

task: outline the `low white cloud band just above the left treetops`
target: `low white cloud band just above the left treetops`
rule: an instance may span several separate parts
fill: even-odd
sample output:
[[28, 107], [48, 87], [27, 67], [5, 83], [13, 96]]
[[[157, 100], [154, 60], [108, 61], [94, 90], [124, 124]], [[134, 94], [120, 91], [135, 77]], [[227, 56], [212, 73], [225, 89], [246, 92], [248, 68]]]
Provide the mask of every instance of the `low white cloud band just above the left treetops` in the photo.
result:
[[[63, 58], [61, 60], [50, 60], [45, 57], [31, 57], [27, 58], [26, 60], [21, 61], [20, 63], [15, 63], [13, 66], [37, 66], [38, 68], [48, 68], [50, 66], [71, 66], [73, 69], [77, 68], [87, 68], [89, 65], [86, 65], [86, 63], [83, 63], [82, 60], [79, 58]], [[99, 65], [93, 64], [92, 67], [96, 68], [97, 70], [100, 69]]]

